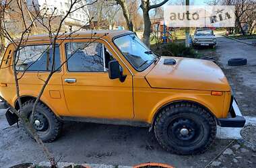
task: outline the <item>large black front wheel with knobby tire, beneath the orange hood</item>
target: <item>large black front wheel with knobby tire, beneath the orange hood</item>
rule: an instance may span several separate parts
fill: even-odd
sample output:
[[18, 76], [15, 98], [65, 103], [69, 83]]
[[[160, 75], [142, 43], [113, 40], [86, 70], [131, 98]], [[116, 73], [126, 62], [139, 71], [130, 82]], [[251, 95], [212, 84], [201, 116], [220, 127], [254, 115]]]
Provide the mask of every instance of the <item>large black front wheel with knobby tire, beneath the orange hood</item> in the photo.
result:
[[[182, 134], [181, 130], [187, 130], [187, 135]], [[166, 151], [195, 155], [206, 151], [214, 142], [216, 122], [209, 112], [199, 106], [175, 103], [164, 107], [158, 114], [154, 132], [160, 146]]]

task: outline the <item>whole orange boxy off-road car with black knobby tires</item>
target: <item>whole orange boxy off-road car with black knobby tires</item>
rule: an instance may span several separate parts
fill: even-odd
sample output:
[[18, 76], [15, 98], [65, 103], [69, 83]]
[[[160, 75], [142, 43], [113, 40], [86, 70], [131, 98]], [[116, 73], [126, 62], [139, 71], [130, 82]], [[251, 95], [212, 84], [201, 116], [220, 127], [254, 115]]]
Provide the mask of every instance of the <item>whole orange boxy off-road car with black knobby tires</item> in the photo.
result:
[[[13, 67], [15, 56], [18, 65]], [[31, 36], [20, 48], [7, 46], [0, 69], [1, 96], [17, 110], [13, 68], [18, 77], [26, 70], [19, 80], [23, 112], [44, 142], [59, 136], [65, 120], [144, 126], [154, 131], [163, 149], [190, 155], [210, 147], [217, 125], [245, 125], [230, 85], [214, 62], [156, 56], [133, 32], [62, 34], [54, 58], [52, 66], [48, 35]], [[32, 120], [35, 97], [52, 67], [57, 72]]]

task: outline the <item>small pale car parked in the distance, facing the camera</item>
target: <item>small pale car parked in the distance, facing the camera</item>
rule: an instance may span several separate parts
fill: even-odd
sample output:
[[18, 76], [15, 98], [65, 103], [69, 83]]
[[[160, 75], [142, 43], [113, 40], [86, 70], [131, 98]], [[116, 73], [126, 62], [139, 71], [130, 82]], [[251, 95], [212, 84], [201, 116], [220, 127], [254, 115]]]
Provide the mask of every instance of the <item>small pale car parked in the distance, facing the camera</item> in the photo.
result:
[[193, 46], [211, 46], [216, 47], [216, 36], [211, 29], [197, 29], [193, 36]]

